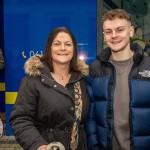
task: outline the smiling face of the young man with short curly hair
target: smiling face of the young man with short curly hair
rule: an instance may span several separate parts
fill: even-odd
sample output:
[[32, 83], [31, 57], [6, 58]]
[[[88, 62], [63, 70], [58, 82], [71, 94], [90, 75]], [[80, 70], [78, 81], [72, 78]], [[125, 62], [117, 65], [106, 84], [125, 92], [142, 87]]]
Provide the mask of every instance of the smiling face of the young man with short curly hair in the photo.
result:
[[130, 37], [134, 34], [131, 23], [125, 19], [106, 20], [103, 23], [104, 39], [112, 52], [130, 49]]

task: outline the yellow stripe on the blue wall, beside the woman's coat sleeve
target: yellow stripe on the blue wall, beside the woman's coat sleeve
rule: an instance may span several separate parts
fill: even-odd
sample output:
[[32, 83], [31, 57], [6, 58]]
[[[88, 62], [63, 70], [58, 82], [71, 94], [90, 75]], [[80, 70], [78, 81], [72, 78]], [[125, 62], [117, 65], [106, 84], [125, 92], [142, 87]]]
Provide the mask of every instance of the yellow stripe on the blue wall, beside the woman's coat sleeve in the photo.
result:
[[14, 104], [16, 101], [18, 92], [5, 92], [6, 104]]

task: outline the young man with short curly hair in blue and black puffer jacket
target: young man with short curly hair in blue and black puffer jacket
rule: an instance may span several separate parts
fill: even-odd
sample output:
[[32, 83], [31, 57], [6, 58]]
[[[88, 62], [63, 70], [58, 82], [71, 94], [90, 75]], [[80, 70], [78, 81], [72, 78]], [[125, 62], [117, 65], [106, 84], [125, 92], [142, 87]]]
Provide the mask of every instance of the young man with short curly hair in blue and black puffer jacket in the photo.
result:
[[87, 120], [89, 150], [149, 150], [150, 58], [137, 44], [131, 18], [122, 9], [103, 16], [107, 48], [90, 65]]

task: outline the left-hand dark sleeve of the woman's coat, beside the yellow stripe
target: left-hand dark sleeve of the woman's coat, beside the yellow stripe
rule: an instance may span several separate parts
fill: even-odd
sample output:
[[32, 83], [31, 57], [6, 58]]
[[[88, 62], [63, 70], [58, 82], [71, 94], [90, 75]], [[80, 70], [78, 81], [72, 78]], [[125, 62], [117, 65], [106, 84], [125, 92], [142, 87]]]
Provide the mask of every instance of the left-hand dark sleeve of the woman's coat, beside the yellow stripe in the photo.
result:
[[38, 93], [33, 82], [28, 77], [23, 79], [9, 120], [16, 140], [24, 150], [36, 150], [47, 144], [34, 126]]

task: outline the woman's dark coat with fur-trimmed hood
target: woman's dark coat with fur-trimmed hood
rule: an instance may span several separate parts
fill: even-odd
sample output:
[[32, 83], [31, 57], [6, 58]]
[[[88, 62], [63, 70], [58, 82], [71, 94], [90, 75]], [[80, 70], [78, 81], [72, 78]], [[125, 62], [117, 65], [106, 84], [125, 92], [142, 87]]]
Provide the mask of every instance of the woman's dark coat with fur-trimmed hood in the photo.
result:
[[84, 74], [88, 66], [78, 60], [78, 68], [82, 73], [72, 72], [69, 83], [63, 87], [53, 79], [40, 57], [33, 56], [25, 63], [27, 76], [21, 82], [10, 116], [16, 140], [24, 150], [37, 150], [39, 146], [53, 141], [61, 142], [69, 150], [75, 113], [74, 83], [79, 81], [83, 107], [78, 150], [86, 150], [83, 125], [89, 112], [89, 98]]

